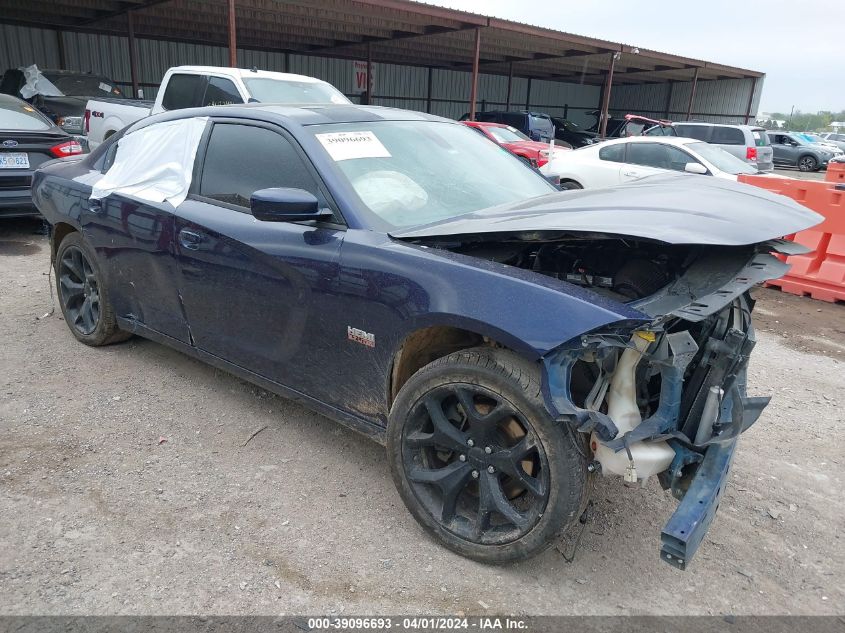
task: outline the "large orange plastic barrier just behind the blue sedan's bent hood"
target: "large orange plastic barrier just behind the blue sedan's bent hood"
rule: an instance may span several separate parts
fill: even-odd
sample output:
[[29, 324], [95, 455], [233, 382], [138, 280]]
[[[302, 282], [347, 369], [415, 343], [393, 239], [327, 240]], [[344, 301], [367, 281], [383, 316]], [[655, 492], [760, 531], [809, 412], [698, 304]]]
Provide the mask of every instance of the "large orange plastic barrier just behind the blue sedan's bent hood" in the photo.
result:
[[845, 190], [839, 184], [845, 183], [845, 165], [841, 170], [837, 165], [827, 178], [825, 182], [743, 175], [739, 180], [789, 196], [824, 216], [818, 226], [786, 236], [812, 252], [787, 258], [792, 266], [789, 272], [766, 285], [822, 301], [845, 302]]

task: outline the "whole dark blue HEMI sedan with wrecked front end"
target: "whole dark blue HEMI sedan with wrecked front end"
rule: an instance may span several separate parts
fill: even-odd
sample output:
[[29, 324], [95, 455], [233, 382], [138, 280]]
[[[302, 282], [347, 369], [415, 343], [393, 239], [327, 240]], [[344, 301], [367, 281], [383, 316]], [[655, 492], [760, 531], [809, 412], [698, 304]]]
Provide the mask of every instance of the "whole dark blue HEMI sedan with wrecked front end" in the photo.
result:
[[79, 341], [159, 341], [386, 444], [481, 561], [548, 546], [599, 473], [657, 476], [680, 568], [768, 401], [748, 291], [819, 219], [683, 174], [560, 192], [463, 125], [353, 105], [151, 117], [33, 199]]

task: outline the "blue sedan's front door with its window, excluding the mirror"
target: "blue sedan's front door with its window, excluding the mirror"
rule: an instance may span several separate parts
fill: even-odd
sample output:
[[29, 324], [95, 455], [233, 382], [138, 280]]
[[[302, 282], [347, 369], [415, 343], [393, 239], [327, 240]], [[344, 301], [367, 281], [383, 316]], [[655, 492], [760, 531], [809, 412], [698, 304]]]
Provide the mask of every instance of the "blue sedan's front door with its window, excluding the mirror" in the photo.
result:
[[292, 187], [331, 208], [319, 177], [279, 128], [217, 121], [176, 216], [181, 296], [203, 352], [331, 401], [325, 332], [345, 228], [259, 221], [254, 191]]

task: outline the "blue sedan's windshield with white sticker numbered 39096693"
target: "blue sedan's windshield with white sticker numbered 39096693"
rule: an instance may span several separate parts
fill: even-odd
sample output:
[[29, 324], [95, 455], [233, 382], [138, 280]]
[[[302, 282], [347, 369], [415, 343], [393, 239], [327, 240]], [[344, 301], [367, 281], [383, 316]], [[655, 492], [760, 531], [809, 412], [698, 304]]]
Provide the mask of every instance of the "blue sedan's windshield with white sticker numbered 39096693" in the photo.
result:
[[556, 191], [507, 150], [463, 125], [375, 121], [309, 127], [336, 172], [390, 231]]

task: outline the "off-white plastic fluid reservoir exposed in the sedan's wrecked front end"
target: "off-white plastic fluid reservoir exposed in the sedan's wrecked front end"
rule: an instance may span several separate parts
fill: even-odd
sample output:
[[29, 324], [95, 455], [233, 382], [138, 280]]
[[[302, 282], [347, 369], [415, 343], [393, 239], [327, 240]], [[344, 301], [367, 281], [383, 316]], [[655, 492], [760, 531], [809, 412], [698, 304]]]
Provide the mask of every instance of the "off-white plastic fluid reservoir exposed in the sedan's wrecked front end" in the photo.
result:
[[[619, 429], [620, 437], [642, 422], [637, 407], [636, 370], [649, 340], [634, 334], [631, 343], [634, 347], [625, 349], [619, 358], [607, 394], [607, 415]], [[615, 453], [602, 444], [595, 433], [590, 439], [590, 445], [595, 447], [595, 458], [601, 464], [602, 473], [620, 475], [629, 482], [645, 480], [663, 472], [675, 457], [675, 451], [666, 442], [634, 442], [629, 446], [633, 458], [632, 469], [631, 460], [624, 449]]]

